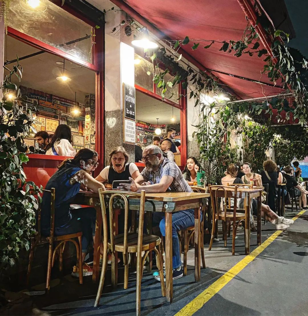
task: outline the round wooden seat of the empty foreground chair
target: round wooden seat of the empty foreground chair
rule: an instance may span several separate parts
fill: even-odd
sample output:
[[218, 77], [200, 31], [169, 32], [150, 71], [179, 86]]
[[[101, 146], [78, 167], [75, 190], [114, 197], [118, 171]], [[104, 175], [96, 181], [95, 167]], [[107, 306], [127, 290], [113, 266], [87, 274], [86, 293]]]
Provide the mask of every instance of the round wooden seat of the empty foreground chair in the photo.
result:
[[[155, 235], [143, 234], [142, 237], [142, 249], [146, 251], [154, 248], [160, 244], [160, 237]], [[127, 234], [127, 251], [137, 252], [138, 245], [138, 234], [128, 233]], [[108, 241], [108, 248], [111, 249], [110, 240]], [[118, 234], [114, 237], [114, 249], [118, 252], [124, 251], [124, 234]]]

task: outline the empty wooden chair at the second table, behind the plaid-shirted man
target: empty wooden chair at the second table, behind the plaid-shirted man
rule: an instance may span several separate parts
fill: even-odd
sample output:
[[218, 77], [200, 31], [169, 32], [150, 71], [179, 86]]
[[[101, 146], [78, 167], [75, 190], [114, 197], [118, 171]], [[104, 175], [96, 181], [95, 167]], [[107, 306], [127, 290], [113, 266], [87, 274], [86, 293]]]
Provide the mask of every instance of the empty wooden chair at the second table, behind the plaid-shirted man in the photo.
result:
[[[213, 190], [214, 188], [217, 188]], [[245, 213], [237, 212], [237, 189], [238, 186], [235, 185], [234, 188], [232, 186], [223, 186], [223, 185], [209, 185], [209, 192], [212, 201], [212, 212], [213, 212], [213, 228], [210, 245], [208, 250], [212, 249], [214, 234], [215, 234], [215, 224], [216, 221], [222, 221], [223, 228], [223, 239], [225, 241], [225, 247], [227, 246], [227, 222], [232, 222], [233, 224], [233, 234], [232, 234], [232, 254], [235, 254], [235, 236], [237, 232], [237, 228], [240, 222], [245, 222]], [[232, 191], [231, 191], [232, 190]], [[219, 203], [218, 203], [218, 192], [223, 192], [222, 204], [223, 211], [219, 211]], [[232, 195], [230, 194], [232, 193]], [[233, 207], [229, 204], [229, 197], [232, 197]], [[246, 236], [245, 236], [246, 238]]]

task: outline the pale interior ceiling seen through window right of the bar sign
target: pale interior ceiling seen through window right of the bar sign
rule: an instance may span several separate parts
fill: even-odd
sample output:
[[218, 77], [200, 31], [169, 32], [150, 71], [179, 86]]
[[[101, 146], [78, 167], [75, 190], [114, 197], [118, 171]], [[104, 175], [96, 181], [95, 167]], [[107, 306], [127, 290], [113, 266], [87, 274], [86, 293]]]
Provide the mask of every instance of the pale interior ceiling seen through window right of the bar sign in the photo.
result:
[[158, 118], [159, 124], [177, 124], [180, 122], [180, 110], [173, 107], [173, 116], [176, 120], [172, 122], [172, 107], [136, 90], [136, 119], [139, 121], [157, 124]]

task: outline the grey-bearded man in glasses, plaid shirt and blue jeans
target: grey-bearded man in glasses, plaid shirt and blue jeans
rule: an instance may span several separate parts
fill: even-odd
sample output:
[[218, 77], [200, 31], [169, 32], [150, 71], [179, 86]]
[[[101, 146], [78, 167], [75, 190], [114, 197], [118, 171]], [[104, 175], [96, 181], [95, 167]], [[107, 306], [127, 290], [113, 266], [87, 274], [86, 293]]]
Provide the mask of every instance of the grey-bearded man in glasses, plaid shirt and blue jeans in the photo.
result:
[[[150, 145], [143, 150], [142, 161], [145, 168], [135, 179], [130, 178], [131, 184], [120, 183], [118, 190], [140, 193], [145, 190], [147, 193], [161, 192], [192, 192], [183, 174], [174, 161], [163, 157], [162, 150], [155, 145]], [[201, 216], [202, 217], [202, 216]], [[206, 222], [206, 221], [205, 221]], [[160, 233], [165, 238], [165, 214], [153, 212], [153, 227], [159, 225]], [[194, 210], [182, 210], [172, 214], [172, 273], [173, 280], [183, 276], [181, 268], [180, 245], [177, 232], [195, 225]], [[155, 276], [160, 281], [159, 276]], [[164, 271], [166, 281], [166, 271]]]

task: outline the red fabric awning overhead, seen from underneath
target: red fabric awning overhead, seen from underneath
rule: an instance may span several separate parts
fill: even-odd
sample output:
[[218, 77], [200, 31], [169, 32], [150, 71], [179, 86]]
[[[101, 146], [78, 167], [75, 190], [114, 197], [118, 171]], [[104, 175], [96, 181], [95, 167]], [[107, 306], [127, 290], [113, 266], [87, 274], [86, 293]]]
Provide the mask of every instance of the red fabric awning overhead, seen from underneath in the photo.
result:
[[[240, 40], [247, 21], [244, 11], [237, 0], [124, 0], [132, 9], [142, 15], [157, 29], [172, 40], [190, 38], [190, 43], [183, 49], [204, 67], [215, 70], [215, 76], [229, 86], [242, 99], [277, 94], [282, 90], [269, 82], [267, 75], [262, 74], [263, 58], [257, 54], [248, 54], [239, 58], [219, 51], [221, 44], [214, 43], [210, 48], [203, 49], [204, 43], [192, 51], [193, 39], [229, 41]], [[118, 3], [118, 1], [117, 1]], [[170, 9], [166, 9], [170, 8]], [[100, 8], [99, 8], [100, 9]], [[207, 42], [209, 44], [209, 42]], [[260, 45], [260, 49], [264, 47]], [[226, 73], [227, 75], [221, 74]], [[256, 82], [238, 79], [245, 77]], [[262, 88], [258, 81], [269, 83]], [[264, 90], [264, 91], [262, 91]]]

